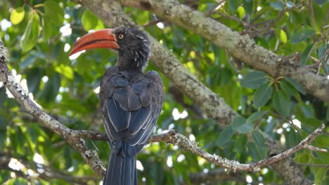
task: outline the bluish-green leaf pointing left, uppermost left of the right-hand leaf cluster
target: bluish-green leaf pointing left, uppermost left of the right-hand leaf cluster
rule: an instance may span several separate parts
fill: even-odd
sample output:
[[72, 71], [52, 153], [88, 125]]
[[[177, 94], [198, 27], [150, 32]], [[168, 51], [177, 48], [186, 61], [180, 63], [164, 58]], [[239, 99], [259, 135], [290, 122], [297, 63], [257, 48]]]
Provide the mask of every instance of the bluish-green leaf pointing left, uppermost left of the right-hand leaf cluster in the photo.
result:
[[245, 88], [256, 89], [268, 82], [269, 79], [266, 78], [266, 74], [262, 71], [252, 71], [247, 73], [243, 79], [240, 81], [241, 86]]

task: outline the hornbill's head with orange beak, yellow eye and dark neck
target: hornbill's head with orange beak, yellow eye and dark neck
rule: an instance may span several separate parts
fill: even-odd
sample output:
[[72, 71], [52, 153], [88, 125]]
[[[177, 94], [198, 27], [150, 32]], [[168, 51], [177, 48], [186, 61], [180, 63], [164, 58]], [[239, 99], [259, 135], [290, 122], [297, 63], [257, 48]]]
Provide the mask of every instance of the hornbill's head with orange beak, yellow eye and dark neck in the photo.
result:
[[150, 39], [147, 34], [132, 27], [101, 29], [82, 36], [75, 42], [70, 55], [81, 50], [112, 48], [118, 50], [118, 67], [143, 70], [150, 57]]

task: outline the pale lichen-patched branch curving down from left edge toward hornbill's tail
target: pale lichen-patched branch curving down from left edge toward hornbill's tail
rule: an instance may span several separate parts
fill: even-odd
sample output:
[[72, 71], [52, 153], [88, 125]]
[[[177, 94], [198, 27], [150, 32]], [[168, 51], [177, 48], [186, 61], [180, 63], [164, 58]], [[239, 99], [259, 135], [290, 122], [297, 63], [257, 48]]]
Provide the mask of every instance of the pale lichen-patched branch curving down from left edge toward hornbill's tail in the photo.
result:
[[56, 119], [46, 114], [41, 110], [37, 104], [35, 104], [30, 97], [27, 95], [26, 90], [24, 90], [19, 83], [15, 81], [14, 76], [8, 70], [6, 62], [8, 61], [8, 55], [6, 53], [6, 48], [0, 38], [0, 79], [6, 86], [6, 88], [11, 92], [15, 100], [20, 103], [20, 105], [26, 109], [34, 118], [37, 119], [46, 128], [60, 135], [65, 141], [70, 144], [74, 149], [76, 149], [84, 162], [89, 164], [91, 169], [97, 174], [105, 174], [105, 167], [103, 167], [101, 160], [95, 151], [89, 150], [84, 144], [84, 139], [79, 139], [78, 137], [72, 137], [72, 130], [65, 127], [65, 125], [59, 123]]

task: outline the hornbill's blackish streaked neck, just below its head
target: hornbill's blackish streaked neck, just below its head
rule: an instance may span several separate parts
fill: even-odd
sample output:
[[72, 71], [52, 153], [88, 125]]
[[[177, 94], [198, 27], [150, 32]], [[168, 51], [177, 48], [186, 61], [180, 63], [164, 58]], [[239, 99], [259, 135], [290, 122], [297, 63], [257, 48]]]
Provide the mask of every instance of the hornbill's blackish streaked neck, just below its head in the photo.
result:
[[119, 57], [116, 66], [120, 70], [143, 71], [147, 64], [148, 64], [148, 57], [143, 57], [143, 55], [141, 55], [138, 52], [136, 53], [119, 52]]

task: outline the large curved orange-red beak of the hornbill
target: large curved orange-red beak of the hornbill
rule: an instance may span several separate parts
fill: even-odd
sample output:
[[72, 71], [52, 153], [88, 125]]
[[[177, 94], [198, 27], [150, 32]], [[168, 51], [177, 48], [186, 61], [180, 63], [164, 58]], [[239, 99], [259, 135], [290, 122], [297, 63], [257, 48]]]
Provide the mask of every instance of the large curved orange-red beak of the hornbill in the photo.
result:
[[119, 48], [115, 34], [112, 33], [112, 29], [101, 29], [82, 36], [75, 42], [69, 56], [81, 50], [93, 48]]

